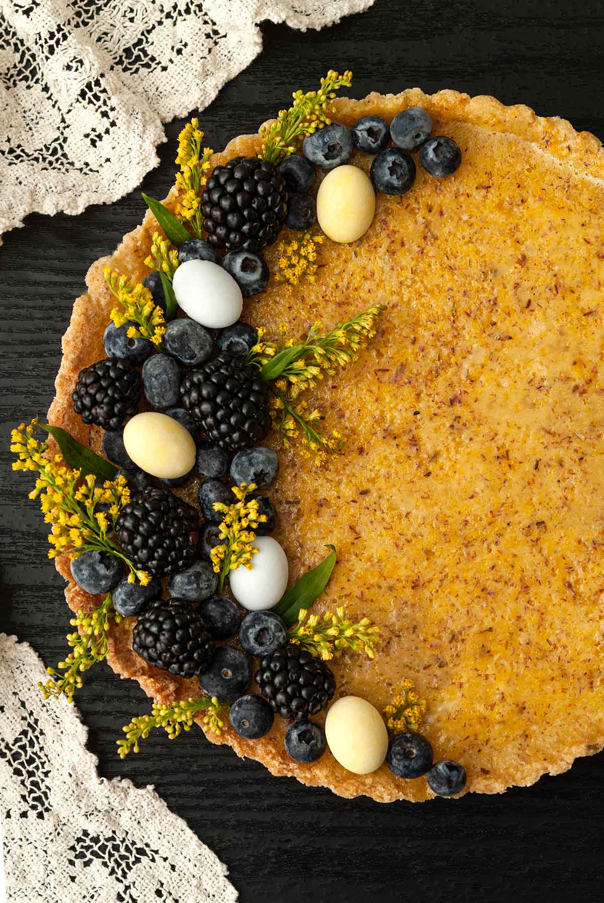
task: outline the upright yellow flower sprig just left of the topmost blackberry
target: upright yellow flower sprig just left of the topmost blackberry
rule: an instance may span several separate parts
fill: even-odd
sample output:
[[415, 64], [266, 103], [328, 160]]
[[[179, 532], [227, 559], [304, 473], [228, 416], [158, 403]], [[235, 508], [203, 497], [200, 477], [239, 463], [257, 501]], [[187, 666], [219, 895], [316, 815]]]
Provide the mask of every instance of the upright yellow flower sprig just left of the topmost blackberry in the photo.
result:
[[207, 182], [209, 158], [214, 153], [210, 147], [201, 146], [203, 132], [199, 119], [191, 119], [178, 138], [176, 163], [181, 171], [176, 173], [176, 185], [180, 192], [176, 204], [176, 216], [190, 225], [193, 234], [203, 234], [201, 215], [201, 189]]

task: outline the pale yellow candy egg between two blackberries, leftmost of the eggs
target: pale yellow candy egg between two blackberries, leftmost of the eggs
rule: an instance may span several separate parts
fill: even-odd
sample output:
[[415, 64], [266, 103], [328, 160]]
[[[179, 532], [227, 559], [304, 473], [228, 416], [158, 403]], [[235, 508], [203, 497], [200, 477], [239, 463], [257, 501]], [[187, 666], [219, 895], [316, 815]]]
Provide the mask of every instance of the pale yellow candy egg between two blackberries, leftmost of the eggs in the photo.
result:
[[195, 463], [193, 437], [167, 414], [135, 414], [125, 424], [124, 444], [135, 465], [159, 479], [184, 477]]

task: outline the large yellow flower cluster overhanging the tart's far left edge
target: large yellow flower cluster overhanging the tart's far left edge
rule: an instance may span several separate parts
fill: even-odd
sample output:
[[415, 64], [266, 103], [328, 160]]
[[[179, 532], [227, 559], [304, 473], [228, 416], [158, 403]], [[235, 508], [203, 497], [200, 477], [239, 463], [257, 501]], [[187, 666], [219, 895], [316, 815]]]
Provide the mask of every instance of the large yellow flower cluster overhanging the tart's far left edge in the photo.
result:
[[[34, 436], [36, 426], [33, 420], [29, 426], [21, 424], [13, 430], [11, 452], [17, 455], [13, 470], [39, 474], [29, 498], [40, 498], [44, 521], [52, 525], [49, 558], [66, 554], [73, 560], [84, 552], [105, 552], [126, 564], [129, 582], [138, 579], [145, 586], [150, 575], [137, 570], [110, 535], [121, 509], [130, 501], [124, 477], [107, 479], [98, 486], [94, 474], [82, 476], [64, 464], [62, 455], [50, 456], [48, 442], [39, 442]], [[107, 506], [107, 511], [100, 506]]]

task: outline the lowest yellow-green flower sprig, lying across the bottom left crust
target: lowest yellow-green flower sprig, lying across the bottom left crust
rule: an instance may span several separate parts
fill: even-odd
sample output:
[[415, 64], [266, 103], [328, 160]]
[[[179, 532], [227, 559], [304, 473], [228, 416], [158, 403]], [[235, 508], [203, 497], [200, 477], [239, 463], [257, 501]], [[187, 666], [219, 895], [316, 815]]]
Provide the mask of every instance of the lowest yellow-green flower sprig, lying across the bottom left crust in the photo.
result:
[[201, 699], [183, 700], [181, 703], [172, 703], [172, 705], [153, 703], [150, 715], [133, 718], [122, 728], [125, 740], [117, 740], [119, 757], [125, 759], [131, 750], [139, 752], [139, 740], [146, 740], [153, 728], [163, 728], [170, 740], [175, 740], [181, 731], [190, 731], [195, 716], [200, 712], [206, 712], [203, 722], [207, 725], [208, 730], [220, 734], [226, 730], [220, 715], [228, 712], [229, 709], [230, 705], [218, 703], [216, 696], [212, 696], [211, 699], [202, 697]]

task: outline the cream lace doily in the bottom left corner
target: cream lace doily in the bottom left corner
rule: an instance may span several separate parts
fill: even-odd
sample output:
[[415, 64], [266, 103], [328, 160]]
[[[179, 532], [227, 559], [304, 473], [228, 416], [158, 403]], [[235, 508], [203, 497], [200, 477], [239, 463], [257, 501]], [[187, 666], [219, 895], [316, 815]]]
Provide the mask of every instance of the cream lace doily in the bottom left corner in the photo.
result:
[[42, 700], [45, 679], [33, 648], [0, 634], [8, 899], [235, 903], [226, 867], [150, 787], [98, 777], [86, 728], [64, 699]]

